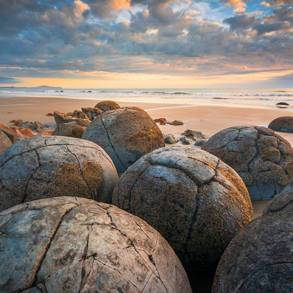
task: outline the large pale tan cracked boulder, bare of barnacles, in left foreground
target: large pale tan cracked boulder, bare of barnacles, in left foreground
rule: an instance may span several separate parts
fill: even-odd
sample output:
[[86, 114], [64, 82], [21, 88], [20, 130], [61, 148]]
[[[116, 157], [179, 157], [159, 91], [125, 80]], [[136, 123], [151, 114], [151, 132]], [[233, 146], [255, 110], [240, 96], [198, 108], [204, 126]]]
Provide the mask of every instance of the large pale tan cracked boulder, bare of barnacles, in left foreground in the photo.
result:
[[110, 204], [54, 197], [0, 213], [0, 292], [192, 293], [167, 241]]

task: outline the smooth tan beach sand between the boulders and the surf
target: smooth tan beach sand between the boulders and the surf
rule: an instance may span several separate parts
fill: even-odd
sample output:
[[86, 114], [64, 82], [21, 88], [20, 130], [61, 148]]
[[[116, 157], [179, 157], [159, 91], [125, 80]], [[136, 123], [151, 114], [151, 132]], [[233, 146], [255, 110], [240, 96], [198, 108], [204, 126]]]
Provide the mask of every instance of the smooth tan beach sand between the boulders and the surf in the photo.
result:
[[[100, 99], [101, 100], [101, 99]], [[54, 110], [67, 113], [81, 110], [81, 107], [94, 107], [99, 99], [70, 99], [60, 97], [15, 97], [0, 98], [0, 123], [10, 126], [12, 119], [24, 121], [39, 121], [42, 124], [55, 123], [54, 117], [45, 116]], [[113, 99], [115, 100], [115, 99]], [[280, 116], [292, 116], [288, 109], [268, 108], [259, 106], [243, 106], [217, 103], [194, 105], [193, 103], [174, 103], [166, 100], [139, 101], [115, 100], [121, 107], [137, 106], [147, 111], [153, 118], [166, 118], [167, 121], [181, 120], [184, 125], [158, 125], [164, 134], [172, 133], [179, 139], [186, 129], [201, 131], [208, 139], [216, 132], [236, 125], [267, 126], [273, 119]], [[9, 113], [10, 112], [10, 113]], [[278, 132], [293, 145], [293, 133]], [[254, 201], [254, 217], [258, 216], [266, 206], [267, 201]]]

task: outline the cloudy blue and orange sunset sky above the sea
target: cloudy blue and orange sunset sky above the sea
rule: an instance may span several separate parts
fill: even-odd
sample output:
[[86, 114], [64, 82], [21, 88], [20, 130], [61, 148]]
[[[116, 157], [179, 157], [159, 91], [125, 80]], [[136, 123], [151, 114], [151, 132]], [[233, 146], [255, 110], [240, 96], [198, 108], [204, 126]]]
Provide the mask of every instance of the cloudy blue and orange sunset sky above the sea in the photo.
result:
[[0, 7], [0, 86], [293, 88], [293, 0]]

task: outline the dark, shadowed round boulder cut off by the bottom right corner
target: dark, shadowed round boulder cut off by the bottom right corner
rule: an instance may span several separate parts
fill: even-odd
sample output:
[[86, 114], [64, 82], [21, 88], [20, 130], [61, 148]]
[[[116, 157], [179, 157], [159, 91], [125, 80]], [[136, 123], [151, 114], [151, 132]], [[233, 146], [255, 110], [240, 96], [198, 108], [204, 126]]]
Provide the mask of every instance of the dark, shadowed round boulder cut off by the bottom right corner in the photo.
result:
[[212, 293], [287, 293], [293, 288], [293, 190], [269, 201], [230, 242]]

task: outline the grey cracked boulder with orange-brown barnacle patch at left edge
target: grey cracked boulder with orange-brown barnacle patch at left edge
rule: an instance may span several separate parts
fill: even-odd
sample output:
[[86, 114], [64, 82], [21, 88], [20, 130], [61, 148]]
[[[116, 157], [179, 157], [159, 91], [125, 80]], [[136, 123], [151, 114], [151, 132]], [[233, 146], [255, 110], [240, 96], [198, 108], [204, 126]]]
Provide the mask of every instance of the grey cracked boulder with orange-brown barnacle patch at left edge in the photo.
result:
[[117, 180], [113, 162], [95, 143], [65, 136], [23, 139], [0, 154], [0, 211], [62, 195], [110, 203]]

